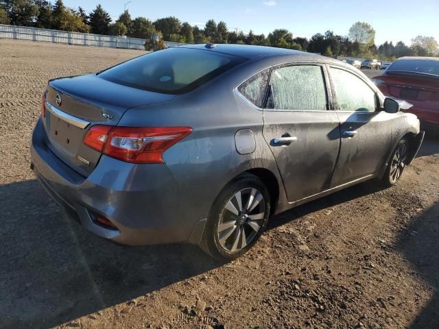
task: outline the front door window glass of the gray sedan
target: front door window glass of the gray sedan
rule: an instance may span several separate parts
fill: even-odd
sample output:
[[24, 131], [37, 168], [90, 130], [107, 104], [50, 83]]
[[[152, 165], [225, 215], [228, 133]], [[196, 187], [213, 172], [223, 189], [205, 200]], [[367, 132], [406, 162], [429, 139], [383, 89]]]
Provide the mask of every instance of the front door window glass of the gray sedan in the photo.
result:
[[331, 67], [338, 107], [342, 111], [375, 112], [375, 91], [359, 77], [342, 69]]

